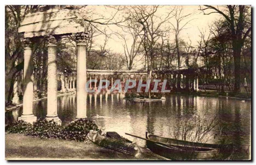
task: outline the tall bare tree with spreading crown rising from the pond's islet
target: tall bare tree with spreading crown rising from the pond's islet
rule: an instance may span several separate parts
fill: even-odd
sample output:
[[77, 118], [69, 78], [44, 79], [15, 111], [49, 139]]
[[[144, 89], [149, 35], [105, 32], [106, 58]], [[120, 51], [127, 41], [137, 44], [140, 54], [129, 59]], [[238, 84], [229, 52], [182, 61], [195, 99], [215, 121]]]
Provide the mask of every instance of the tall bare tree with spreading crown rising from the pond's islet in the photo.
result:
[[[172, 18], [172, 11], [169, 11], [165, 15], [158, 16], [156, 12], [161, 7], [162, 6], [158, 5], [131, 7], [131, 17], [134, 22], [140, 24], [140, 29], [142, 29], [141, 33], [138, 35], [141, 38], [147, 61], [148, 79], [151, 79], [152, 76], [154, 59], [156, 58], [156, 43], [170, 30], [165, 25], [168, 20]], [[148, 92], [148, 98], [151, 98], [150, 90]]]

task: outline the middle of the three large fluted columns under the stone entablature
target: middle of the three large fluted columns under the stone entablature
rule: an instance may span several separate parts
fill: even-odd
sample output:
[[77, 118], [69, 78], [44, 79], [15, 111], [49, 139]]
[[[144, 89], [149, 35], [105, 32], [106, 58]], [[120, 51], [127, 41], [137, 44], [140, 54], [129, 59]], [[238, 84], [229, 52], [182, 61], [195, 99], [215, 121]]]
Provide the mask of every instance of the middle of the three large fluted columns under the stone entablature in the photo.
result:
[[61, 124], [57, 114], [57, 41], [48, 36], [48, 72], [47, 72], [47, 115], [46, 120]]

